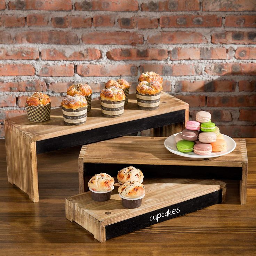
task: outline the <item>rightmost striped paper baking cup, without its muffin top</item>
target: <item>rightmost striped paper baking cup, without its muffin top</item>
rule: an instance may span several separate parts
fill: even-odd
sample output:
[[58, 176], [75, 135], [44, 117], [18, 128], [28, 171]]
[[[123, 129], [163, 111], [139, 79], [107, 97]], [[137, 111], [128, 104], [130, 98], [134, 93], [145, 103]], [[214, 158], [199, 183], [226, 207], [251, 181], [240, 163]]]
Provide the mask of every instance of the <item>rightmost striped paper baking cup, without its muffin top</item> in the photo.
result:
[[141, 94], [136, 90], [137, 104], [141, 110], [154, 110], [159, 107], [161, 91], [157, 94]]

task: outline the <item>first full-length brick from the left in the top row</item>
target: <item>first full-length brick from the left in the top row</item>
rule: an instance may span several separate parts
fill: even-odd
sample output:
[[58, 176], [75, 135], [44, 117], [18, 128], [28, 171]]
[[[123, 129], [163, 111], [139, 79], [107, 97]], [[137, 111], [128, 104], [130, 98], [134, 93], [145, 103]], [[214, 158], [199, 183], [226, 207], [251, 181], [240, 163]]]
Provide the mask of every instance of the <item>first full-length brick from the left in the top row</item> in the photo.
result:
[[45, 10], [66, 11], [72, 10], [71, 0], [16, 0], [9, 2], [9, 9], [14, 10]]

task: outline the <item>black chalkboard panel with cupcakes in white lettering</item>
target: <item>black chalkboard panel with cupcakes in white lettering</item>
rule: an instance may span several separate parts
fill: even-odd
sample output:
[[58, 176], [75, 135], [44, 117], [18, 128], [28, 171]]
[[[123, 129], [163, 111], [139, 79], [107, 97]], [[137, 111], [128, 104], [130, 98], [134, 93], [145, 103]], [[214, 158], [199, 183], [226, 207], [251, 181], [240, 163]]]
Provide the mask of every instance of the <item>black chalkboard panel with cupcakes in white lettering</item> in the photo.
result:
[[159, 222], [167, 221], [187, 213], [222, 202], [222, 190], [193, 198], [175, 205], [145, 213], [125, 221], [105, 226], [106, 239], [142, 229]]

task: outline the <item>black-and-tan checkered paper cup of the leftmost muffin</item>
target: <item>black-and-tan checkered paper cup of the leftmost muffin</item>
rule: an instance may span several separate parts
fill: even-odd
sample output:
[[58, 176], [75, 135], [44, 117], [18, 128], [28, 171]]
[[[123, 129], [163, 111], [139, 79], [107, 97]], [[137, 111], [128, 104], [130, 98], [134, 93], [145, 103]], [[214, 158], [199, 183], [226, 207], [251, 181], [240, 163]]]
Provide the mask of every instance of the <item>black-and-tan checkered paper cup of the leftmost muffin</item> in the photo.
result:
[[27, 118], [32, 122], [43, 122], [50, 119], [51, 103], [46, 105], [29, 106], [26, 103]]

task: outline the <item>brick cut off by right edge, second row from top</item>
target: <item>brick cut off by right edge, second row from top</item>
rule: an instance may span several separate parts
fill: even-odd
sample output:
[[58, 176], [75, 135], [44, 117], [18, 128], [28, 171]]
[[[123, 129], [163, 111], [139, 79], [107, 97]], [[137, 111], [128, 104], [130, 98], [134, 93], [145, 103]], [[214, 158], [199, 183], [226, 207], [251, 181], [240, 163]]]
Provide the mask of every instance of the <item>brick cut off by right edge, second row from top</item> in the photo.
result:
[[225, 27], [256, 27], [255, 15], [229, 15], [225, 20]]

